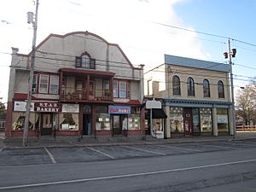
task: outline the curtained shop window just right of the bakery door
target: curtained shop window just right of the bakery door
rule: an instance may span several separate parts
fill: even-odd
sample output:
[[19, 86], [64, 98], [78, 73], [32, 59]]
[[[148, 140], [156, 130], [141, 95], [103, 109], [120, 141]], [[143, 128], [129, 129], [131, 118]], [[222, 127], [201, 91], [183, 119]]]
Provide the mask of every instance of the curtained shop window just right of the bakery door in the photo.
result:
[[61, 131], [79, 130], [79, 113], [60, 113], [59, 120]]

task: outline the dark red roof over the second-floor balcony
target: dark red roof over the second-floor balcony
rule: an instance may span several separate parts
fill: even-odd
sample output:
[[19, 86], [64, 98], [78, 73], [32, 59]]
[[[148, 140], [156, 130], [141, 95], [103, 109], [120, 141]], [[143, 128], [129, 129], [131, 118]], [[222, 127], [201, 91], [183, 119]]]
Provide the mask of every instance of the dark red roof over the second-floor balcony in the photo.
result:
[[83, 68], [60, 68], [60, 73], [90, 74], [90, 75], [105, 76], [105, 77], [113, 77], [115, 75], [115, 73], [112, 73], [112, 72], [86, 70]]

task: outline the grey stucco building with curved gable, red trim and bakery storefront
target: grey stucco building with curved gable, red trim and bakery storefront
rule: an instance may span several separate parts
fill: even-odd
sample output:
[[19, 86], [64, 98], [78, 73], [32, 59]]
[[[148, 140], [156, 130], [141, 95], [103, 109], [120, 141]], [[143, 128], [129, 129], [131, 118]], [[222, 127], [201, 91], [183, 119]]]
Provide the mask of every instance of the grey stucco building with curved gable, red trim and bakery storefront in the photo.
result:
[[[6, 137], [21, 137], [31, 55], [13, 48]], [[91, 32], [50, 34], [36, 47], [28, 136], [140, 136], [143, 65]]]

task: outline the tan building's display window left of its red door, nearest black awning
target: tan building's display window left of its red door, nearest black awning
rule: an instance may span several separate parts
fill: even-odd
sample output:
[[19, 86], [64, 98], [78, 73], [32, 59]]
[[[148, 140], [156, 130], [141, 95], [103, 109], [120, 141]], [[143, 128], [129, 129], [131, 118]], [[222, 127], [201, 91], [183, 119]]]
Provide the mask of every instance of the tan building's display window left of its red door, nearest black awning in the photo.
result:
[[171, 133], [183, 133], [183, 108], [170, 108]]

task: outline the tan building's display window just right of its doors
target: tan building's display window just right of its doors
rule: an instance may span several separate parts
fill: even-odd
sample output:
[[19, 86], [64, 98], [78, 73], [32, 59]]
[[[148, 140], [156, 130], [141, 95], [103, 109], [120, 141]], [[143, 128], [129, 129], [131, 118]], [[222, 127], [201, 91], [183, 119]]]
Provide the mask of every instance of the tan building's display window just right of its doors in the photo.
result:
[[212, 133], [212, 110], [211, 108], [200, 109], [201, 132]]

